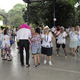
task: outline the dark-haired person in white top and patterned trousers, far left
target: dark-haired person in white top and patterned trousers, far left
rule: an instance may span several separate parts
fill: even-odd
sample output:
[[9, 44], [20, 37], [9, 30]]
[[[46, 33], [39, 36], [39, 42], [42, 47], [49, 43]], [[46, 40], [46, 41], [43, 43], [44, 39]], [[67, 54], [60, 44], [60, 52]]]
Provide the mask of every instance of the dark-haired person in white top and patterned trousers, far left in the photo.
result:
[[7, 35], [7, 30], [4, 31], [2, 46], [4, 50], [3, 60], [6, 60], [8, 57], [8, 61], [11, 61], [10, 37]]

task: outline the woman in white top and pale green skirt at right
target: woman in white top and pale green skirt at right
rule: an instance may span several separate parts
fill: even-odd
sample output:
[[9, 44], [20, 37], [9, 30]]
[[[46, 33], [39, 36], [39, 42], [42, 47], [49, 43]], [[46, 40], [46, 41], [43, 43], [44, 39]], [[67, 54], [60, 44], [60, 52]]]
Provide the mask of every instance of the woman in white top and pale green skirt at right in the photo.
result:
[[[78, 35], [78, 33], [75, 31], [75, 28], [72, 27], [71, 28], [71, 31], [69, 33], [69, 36], [70, 36], [70, 44], [69, 44], [69, 47], [70, 47], [70, 52], [71, 52], [71, 54], [73, 56], [75, 56], [75, 50], [77, 48], [77, 41], [78, 41], [77, 35]], [[73, 50], [73, 52], [72, 52], [72, 50]]]

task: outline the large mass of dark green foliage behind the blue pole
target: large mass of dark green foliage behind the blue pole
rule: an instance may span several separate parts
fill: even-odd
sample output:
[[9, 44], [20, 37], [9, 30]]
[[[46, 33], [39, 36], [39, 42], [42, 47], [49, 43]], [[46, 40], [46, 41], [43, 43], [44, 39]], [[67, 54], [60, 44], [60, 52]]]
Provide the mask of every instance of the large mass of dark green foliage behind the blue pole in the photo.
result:
[[[72, 0], [70, 0], [72, 1]], [[46, 2], [36, 2], [30, 4], [30, 22], [36, 25], [45, 24], [53, 26], [53, 0]], [[27, 21], [27, 10], [24, 11], [23, 18]], [[75, 9], [67, 0], [56, 1], [56, 25], [69, 26], [75, 25]]]

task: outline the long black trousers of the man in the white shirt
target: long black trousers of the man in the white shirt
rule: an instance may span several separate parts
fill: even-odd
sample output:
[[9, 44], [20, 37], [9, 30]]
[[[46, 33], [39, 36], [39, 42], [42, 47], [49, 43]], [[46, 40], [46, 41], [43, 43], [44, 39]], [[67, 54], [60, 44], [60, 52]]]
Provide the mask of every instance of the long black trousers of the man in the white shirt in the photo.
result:
[[23, 48], [26, 50], [26, 65], [29, 64], [29, 41], [28, 40], [20, 40], [19, 41], [20, 46], [20, 61], [21, 64], [24, 64], [24, 55], [23, 55]]

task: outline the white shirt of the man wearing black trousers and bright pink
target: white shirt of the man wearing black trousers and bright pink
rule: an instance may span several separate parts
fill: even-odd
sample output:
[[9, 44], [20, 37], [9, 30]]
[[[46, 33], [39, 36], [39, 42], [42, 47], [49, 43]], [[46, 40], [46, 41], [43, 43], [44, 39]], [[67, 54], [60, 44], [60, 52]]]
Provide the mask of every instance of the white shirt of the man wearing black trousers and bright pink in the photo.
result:
[[26, 28], [22, 28], [17, 31], [17, 40], [29, 40], [31, 38], [31, 31]]

